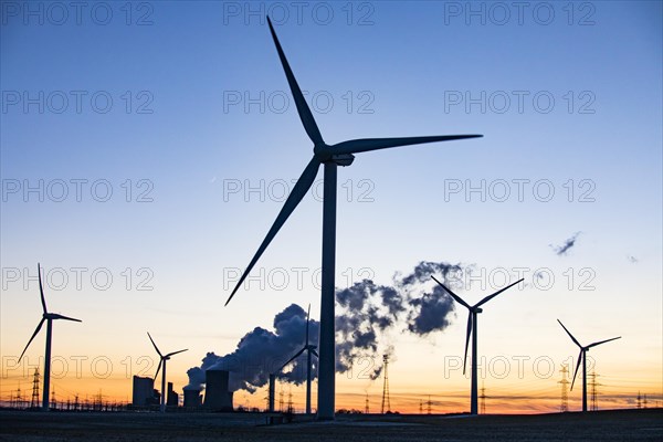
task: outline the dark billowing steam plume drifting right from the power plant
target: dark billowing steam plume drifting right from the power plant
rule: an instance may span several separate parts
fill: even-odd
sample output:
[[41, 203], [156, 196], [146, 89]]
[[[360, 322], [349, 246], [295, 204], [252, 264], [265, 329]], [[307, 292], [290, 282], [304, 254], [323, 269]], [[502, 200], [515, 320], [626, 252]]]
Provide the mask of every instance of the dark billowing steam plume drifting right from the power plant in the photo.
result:
[[[348, 372], [355, 366], [358, 377], [376, 379], [380, 376], [382, 356], [394, 360], [389, 334], [410, 332], [424, 336], [443, 330], [454, 312], [452, 298], [431, 280], [431, 275], [453, 287], [460, 274], [471, 266], [444, 262], [422, 261], [412, 272], [396, 274], [393, 285], [379, 285], [362, 280], [336, 292], [336, 371]], [[230, 389], [254, 392], [269, 382], [270, 373], [305, 344], [306, 312], [292, 304], [274, 317], [273, 329], [255, 327], [245, 334], [234, 351], [218, 356], [208, 352], [199, 367], [187, 371], [189, 385], [185, 389], [202, 389], [208, 369], [230, 371]], [[309, 343], [318, 344], [319, 323], [309, 322]], [[313, 357], [312, 378], [317, 377], [317, 358]], [[295, 385], [306, 380], [306, 356], [303, 354], [288, 364], [278, 378]]]

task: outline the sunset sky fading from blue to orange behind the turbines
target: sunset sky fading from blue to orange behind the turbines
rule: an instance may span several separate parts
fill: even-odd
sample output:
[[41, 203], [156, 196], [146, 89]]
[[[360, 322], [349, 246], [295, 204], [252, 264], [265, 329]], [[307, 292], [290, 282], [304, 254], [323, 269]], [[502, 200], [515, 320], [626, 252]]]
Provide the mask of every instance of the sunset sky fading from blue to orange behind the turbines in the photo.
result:
[[[338, 291], [397, 286], [420, 262], [472, 269], [455, 285], [471, 304], [524, 277], [480, 316], [488, 412], [558, 410], [577, 357], [558, 318], [583, 344], [622, 336], [590, 352], [601, 407], [663, 400], [660, 2], [1, 7], [0, 399], [29, 390], [43, 358], [42, 330], [18, 365], [40, 320], [38, 262], [49, 308], [83, 320], [54, 324], [60, 400], [130, 400], [130, 377], [158, 362], [146, 332], [188, 348], [168, 365], [181, 391], [207, 352], [272, 330], [291, 304], [319, 318], [322, 173], [223, 306], [312, 155], [270, 14], [328, 144], [484, 136], [339, 168]], [[378, 330], [337, 375], [337, 408], [379, 408], [367, 367], [388, 350], [392, 409], [429, 394], [434, 412], [469, 409], [466, 312], [448, 315], [431, 333], [408, 315]], [[283, 389], [303, 407], [302, 386]]]

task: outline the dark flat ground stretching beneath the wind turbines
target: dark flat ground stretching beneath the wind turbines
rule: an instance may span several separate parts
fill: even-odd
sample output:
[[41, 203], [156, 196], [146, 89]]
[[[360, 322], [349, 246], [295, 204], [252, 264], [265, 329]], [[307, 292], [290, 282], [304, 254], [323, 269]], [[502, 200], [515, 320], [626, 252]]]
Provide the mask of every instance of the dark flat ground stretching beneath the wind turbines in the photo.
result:
[[264, 423], [263, 414], [242, 413], [0, 411], [0, 441], [663, 441], [663, 409]]

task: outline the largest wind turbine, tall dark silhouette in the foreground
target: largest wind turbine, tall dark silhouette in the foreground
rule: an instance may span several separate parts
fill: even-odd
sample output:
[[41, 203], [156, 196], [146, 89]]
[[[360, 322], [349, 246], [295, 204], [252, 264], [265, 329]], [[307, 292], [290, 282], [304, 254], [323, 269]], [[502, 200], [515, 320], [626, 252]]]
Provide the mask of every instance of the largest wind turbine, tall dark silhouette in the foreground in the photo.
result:
[[278, 59], [285, 71], [285, 76], [293, 94], [297, 113], [304, 125], [308, 138], [313, 141], [313, 158], [304, 169], [304, 172], [293, 187], [291, 194], [285, 200], [281, 212], [276, 217], [274, 224], [267, 232], [267, 235], [260, 244], [257, 252], [246, 266], [246, 270], [240, 277], [238, 285], [232, 291], [225, 305], [238, 292], [260, 256], [267, 249], [278, 230], [283, 227], [287, 218], [302, 201], [308, 189], [313, 186], [315, 177], [322, 165], [325, 166], [324, 191], [323, 191], [323, 272], [322, 272], [322, 303], [320, 303], [320, 357], [318, 370], [318, 419], [334, 419], [335, 401], [335, 375], [336, 375], [336, 355], [335, 355], [335, 328], [334, 328], [334, 303], [335, 285], [334, 277], [336, 271], [336, 187], [337, 187], [337, 166], [350, 166], [355, 156], [352, 154], [387, 149], [398, 146], [419, 145], [424, 143], [450, 141], [463, 138], [476, 138], [481, 135], [443, 135], [428, 137], [407, 137], [407, 138], [362, 138], [349, 141], [327, 145], [313, 118], [313, 114], [304, 99], [302, 90], [295, 80], [293, 71], [287, 63], [281, 43], [276, 38], [272, 21], [267, 17], [270, 32], [274, 40], [274, 45], [278, 52]]

